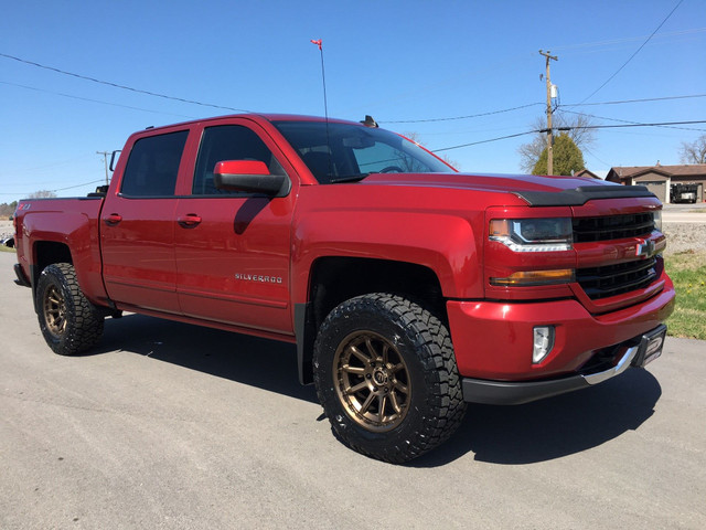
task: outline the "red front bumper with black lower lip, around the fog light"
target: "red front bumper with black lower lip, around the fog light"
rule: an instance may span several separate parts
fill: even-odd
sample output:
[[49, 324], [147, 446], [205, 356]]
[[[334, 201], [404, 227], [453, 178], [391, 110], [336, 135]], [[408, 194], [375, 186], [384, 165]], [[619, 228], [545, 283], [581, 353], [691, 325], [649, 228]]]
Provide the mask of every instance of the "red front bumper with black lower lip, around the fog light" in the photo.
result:
[[[590, 385], [597, 379], [591, 369], [610, 368], [597, 359], [610, 357], [617, 365], [667, 319], [674, 299], [674, 286], [665, 275], [662, 290], [653, 297], [601, 315], [590, 314], [575, 299], [449, 300], [449, 330], [466, 399], [523, 403]], [[538, 326], [553, 326], [555, 340], [550, 352], [533, 363], [533, 330]]]

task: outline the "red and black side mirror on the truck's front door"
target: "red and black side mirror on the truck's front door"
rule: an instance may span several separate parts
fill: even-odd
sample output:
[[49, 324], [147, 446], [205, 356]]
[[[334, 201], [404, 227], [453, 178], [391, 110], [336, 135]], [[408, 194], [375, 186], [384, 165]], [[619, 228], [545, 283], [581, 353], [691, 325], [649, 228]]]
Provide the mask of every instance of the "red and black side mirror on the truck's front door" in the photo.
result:
[[216, 163], [213, 183], [218, 190], [265, 193], [284, 197], [289, 193], [290, 182], [286, 174], [270, 174], [265, 162], [259, 160], [226, 160]]

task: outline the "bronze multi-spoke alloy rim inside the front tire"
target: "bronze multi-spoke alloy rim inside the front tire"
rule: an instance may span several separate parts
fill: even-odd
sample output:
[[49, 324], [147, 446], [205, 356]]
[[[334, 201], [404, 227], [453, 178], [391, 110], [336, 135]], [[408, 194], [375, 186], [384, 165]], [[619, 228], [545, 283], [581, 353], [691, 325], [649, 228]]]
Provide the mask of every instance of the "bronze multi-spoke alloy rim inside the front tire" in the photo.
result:
[[333, 359], [336, 393], [346, 414], [367, 431], [398, 426], [407, 415], [411, 384], [407, 364], [389, 340], [355, 331]]

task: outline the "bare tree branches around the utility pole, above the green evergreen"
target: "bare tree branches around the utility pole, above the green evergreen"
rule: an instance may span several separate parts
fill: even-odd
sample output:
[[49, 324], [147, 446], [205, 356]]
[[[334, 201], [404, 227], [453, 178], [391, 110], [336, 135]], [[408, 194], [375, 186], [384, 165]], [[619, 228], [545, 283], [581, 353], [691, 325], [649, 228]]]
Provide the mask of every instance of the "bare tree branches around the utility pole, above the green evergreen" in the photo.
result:
[[[553, 121], [554, 129], [569, 129], [566, 134], [581, 151], [596, 144], [596, 129], [589, 128], [593, 125], [589, 116], [586, 116], [585, 114], [576, 114], [567, 117], [564, 114], [556, 114]], [[538, 116], [532, 123], [532, 128], [535, 130], [545, 129], [546, 126], [546, 118], [543, 116]], [[517, 148], [517, 152], [520, 153], [520, 167], [522, 170], [526, 173], [532, 172], [532, 169], [535, 167], [542, 156], [542, 152], [546, 148], [546, 132], [536, 132], [532, 137], [531, 141], [520, 146]]]

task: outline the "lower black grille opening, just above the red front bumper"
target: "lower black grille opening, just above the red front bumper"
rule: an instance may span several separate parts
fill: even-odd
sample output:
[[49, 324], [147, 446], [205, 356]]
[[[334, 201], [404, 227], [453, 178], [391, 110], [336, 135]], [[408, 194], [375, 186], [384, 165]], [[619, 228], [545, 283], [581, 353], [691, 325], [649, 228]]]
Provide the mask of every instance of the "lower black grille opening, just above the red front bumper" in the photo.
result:
[[579, 268], [576, 279], [589, 298], [597, 300], [642, 289], [657, 276], [656, 257], [638, 262]]

